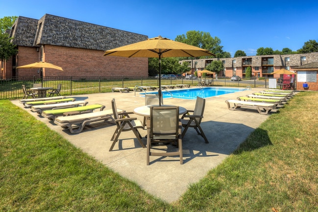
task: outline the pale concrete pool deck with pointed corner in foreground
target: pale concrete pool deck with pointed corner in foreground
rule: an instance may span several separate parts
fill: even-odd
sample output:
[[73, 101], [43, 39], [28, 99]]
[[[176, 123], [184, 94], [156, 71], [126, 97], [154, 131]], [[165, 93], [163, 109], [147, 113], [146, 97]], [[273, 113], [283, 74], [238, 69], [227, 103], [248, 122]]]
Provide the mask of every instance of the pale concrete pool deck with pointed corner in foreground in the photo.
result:
[[[252, 89], [234, 94], [206, 98], [204, 118], [201, 127], [209, 143], [196, 134], [191, 128], [183, 139], [184, 164], [180, 165], [178, 157], [150, 157], [150, 165], [146, 165], [146, 148], [142, 148], [132, 132], [122, 132], [120, 141], [114, 150], [109, 152], [112, 141], [110, 138], [116, 126], [108, 123], [85, 127], [79, 134], [70, 134], [68, 129], [57, 126], [53, 121], [43, 118], [30, 109], [24, 108], [19, 100], [12, 101], [28, 111], [35, 118], [47, 125], [74, 146], [92, 155], [123, 177], [136, 182], [141, 188], [167, 202], [176, 201], [188, 188], [189, 184], [203, 178], [209, 170], [219, 165], [237, 146], [245, 141], [269, 115], [260, 115], [256, 110], [228, 110], [227, 99], [236, 99], [264, 89]], [[86, 100], [89, 104], [103, 104], [111, 109], [111, 99], [116, 98], [118, 108], [132, 111], [134, 108], [145, 105], [145, 99], [136, 92], [129, 93], [102, 93], [75, 95], [76, 100]], [[193, 110], [196, 100], [164, 99], [165, 104], [179, 105]], [[275, 112], [275, 111], [273, 111]], [[135, 115], [133, 115], [135, 116]], [[140, 120], [143, 117], [135, 116]], [[144, 137], [146, 130], [140, 131]], [[146, 144], [145, 137], [143, 138]], [[172, 145], [169, 148], [175, 148]]]

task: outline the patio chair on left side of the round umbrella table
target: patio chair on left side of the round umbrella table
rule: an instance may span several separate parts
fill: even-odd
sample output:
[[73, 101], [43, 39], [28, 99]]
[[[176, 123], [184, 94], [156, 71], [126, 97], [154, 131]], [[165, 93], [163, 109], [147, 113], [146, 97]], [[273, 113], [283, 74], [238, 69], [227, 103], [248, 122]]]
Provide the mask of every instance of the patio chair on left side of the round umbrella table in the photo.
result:
[[118, 141], [119, 136], [122, 132], [126, 131], [132, 131], [136, 138], [138, 139], [140, 145], [145, 148], [145, 144], [141, 140], [142, 137], [138, 131], [138, 129], [145, 129], [143, 123], [140, 120], [137, 120], [137, 118], [130, 118], [129, 114], [133, 114], [133, 112], [123, 112], [118, 113], [115, 98], [112, 99], [112, 109], [113, 109], [113, 115], [116, 123], [116, 130], [111, 138], [110, 141], [113, 141], [111, 147], [109, 148], [109, 151], [112, 151], [115, 143]]

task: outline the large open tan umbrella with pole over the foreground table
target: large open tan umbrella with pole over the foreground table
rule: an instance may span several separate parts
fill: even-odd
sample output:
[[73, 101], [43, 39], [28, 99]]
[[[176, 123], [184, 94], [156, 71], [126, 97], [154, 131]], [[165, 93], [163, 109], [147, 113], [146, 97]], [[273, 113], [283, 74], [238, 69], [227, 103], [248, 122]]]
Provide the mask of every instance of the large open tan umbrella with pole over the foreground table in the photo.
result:
[[158, 57], [159, 58], [159, 105], [161, 105], [161, 58], [162, 57], [199, 57], [216, 56], [210, 51], [172, 41], [161, 36], [146, 41], [106, 50], [104, 56], [120, 57]]

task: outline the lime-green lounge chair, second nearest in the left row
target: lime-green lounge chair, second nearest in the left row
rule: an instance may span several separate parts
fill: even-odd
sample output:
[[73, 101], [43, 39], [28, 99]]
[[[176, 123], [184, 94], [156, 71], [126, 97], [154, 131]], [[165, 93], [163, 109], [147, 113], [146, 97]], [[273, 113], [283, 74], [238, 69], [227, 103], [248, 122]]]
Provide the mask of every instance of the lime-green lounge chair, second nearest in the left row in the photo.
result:
[[54, 120], [55, 117], [59, 117], [63, 115], [68, 116], [68, 115], [78, 115], [82, 113], [91, 113], [93, 112], [93, 110], [99, 109], [99, 111], [102, 111], [104, 108], [105, 108], [104, 105], [92, 104], [92, 105], [86, 105], [82, 107], [47, 110], [42, 112], [42, 116], [45, 118], [49, 118], [50, 120]]

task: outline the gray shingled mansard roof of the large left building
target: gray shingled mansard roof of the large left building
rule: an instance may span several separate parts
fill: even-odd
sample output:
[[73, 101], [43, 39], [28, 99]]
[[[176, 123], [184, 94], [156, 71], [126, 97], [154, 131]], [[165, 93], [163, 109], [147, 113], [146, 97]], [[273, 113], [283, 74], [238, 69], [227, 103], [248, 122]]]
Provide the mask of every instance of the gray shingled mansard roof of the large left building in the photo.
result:
[[16, 28], [19, 30], [12, 34], [14, 44], [18, 46], [53, 45], [107, 50], [148, 38], [146, 35], [49, 14], [40, 20], [24, 17], [19, 17], [18, 20], [20, 22]]

